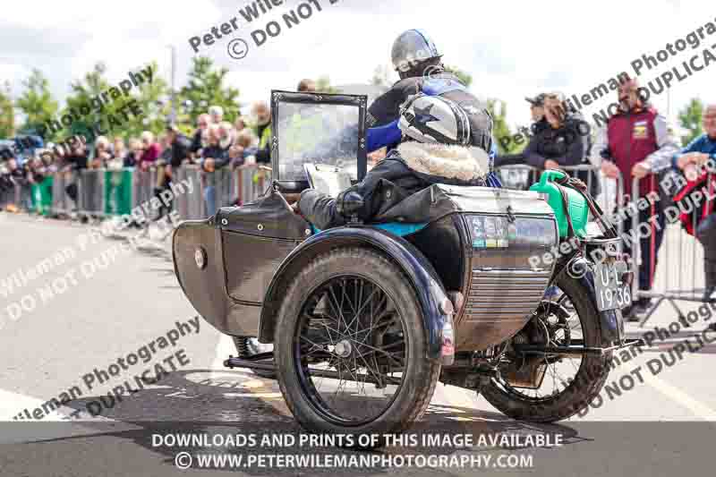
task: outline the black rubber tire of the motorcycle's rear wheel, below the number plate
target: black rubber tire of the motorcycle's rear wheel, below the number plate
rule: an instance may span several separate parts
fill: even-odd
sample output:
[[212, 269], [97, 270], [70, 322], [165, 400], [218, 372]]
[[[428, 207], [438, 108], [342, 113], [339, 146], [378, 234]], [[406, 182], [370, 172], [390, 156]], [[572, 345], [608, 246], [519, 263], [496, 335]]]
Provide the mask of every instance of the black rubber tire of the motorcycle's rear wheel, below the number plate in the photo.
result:
[[[589, 299], [587, 291], [577, 280], [568, 277], [567, 273], [561, 274], [556, 285], [574, 306], [585, 345], [600, 346], [599, 313]], [[578, 413], [599, 395], [609, 376], [610, 361], [611, 352], [601, 356], [582, 356], [574, 379], [554, 396], [540, 398], [526, 396], [507, 385], [505, 381], [496, 379], [490, 379], [490, 383], [483, 386], [480, 392], [490, 405], [514, 419], [529, 422], [556, 422]]]

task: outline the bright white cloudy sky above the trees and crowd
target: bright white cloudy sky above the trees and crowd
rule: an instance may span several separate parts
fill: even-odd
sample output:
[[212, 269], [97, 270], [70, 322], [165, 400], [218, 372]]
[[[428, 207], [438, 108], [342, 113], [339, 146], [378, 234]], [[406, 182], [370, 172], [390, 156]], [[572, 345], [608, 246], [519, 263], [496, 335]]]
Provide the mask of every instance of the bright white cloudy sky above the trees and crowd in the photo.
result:
[[[271, 0], [261, 0], [271, 2]], [[273, 0], [279, 2], [279, 0]], [[335, 4], [330, 4], [333, 1]], [[268, 98], [270, 89], [294, 89], [304, 77], [328, 75], [334, 84], [370, 81], [379, 64], [389, 64], [390, 47], [403, 30], [422, 28], [434, 38], [447, 64], [473, 75], [473, 92], [507, 101], [511, 124], [527, 124], [525, 95], [544, 90], [583, 94], [618, 72], [632, 72], [630, 63], [678, 38], [716, 21], [716, 8], [706, 1], [651, 0], [516, 2], [501, 0], [311, 0], [312, 16], [292, 29], [283, 13], [306, 3], [284, 5], [245, 21], [240, 9], [247, 0], [21, 0], [5, 2], [0, 18], [0, 81], [21, 92], [32, 68], [49, 78], [57, 98], [69, 92], [72, 79], [93, 64], [107, 64], [110, 81], [121, 81], [157, 61], [169, 81], [170, 49], [176, 51], [177, 86], [193, 55], [207, 55], [230, 71], [241, 100]], [[320, 4], [321, 11], [316, 8]], [[303, 13], [307, 12], [303, 7]], [[195, 54], [188, 39], [237, 17], [238, 30], [200, 46]], [[283, 30], [256, 47], [251, 32], [278, 21]], [[249, 44], [245, 58], [226, 53], [233, 38]], [[704, 47], [670, 57], [658, 69], [643, 73], [648, 81], [679, 66]], [[716, 47], [711, 50], [716, 53]], [[699, 60], [703, 63], [703, 59]], [[683, 68], [683, 67], [682, 67]], [[716, 64], [671, 89], [671, 116], [689, 98], [716, 101]], [[613, 100], [601, 100], [584, 111], [590, 115]], [[667, 95], [654, 103], [664, 112]]]

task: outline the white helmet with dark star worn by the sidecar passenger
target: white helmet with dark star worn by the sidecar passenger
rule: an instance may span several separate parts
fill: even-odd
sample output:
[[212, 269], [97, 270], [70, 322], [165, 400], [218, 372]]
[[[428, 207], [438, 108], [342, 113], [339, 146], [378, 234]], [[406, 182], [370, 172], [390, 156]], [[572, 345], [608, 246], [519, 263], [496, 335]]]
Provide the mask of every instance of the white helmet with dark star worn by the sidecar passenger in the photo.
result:
[[454, 101], [424, 94], [409, 98], [401, 108], [400, 130], [418, 142], [467, 146], [470, 120]]

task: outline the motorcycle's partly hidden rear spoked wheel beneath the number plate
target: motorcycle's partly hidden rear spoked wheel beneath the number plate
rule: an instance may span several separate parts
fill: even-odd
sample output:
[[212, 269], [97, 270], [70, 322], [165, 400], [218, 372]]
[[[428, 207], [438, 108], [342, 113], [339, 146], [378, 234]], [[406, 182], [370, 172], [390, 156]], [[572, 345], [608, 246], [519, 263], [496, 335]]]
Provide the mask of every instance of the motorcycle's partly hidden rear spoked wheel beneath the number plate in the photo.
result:
[[[556, 285], [564, 292], [558, 303], [563, 310], [571, 308], [571, 312], [568, 313], [570, 318], [562, 320], [568, 329], [564, 328], [561, 335], [553, 336], [553, 342], [562, 345], [569, 339], [584, 339], [587, 346], [599, 346], [599, 313], [583, 286], [567, 274], [562, 274]], [[564, 301], [571, 302], [571, 306]], [[549, 312], [550, 305], [542, 307], [542, 310]], [[540, 359], [544, 360], [546, 370], [539, 389], [517, 388], [504, 378], [493, 378], [482, 386], [480, 393], [500, 412], [515, 419], [530, 422], [567, 419], [589, 405], [601, 391], [609, 376], [611, 352], [551, 362], [547, 358]]]

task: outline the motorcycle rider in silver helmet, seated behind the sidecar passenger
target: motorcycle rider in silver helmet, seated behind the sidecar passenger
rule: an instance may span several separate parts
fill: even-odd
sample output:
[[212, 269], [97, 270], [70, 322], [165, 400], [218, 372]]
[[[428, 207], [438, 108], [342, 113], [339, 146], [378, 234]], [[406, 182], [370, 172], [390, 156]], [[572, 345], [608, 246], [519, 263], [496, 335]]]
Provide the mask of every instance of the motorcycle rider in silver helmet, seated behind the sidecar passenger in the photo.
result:
[[497, 151], [492, 140], [492, 118], [486, 106], [473, 96], [453, 73], [446, 72], [442, 55], [422, 30], [407, 30], [393, 43], [393, 66], [400, 76], [391, 89], [377, 98], [368, 109], [368, 151], [388, 146], [392, 149], [401, 139], [397, 128], [401, 105], [411, 96], [423, 93], [447, 98], [460, 106], [469, 118], [472, 145], [490, 153], [490, 174], [486, 185], [499, 187], [492, 174], [491, 159]]

